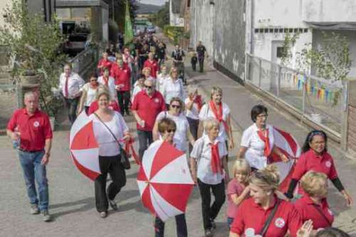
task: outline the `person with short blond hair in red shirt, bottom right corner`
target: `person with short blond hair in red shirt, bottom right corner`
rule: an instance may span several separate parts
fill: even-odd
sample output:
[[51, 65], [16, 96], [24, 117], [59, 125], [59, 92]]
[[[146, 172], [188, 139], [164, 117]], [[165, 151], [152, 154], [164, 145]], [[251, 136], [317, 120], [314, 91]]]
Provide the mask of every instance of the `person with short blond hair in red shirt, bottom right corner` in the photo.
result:
[[318, 229], [331, 227], [334, 221], [333, 212], [326, 201], [328, 177], [323, 173], [310, 171], [300, 179], [300, 185], [305, 195], [295, 201], [294, 206], [299, 211], [302, 221], [313, 221], [315, 235]]

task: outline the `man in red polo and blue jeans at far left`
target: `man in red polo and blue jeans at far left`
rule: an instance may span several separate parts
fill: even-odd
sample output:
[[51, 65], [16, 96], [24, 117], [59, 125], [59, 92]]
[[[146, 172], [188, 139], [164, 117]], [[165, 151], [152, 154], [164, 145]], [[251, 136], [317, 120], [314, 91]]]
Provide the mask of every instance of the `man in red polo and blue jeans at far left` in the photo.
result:
[[[14, 148], [19, 149], [31, 214], [43, 214], [43, 221], [50, 221], [48, 214], [48, 183], [46, 164], [51, 154], [52, 130], [48, 115], [38, 110], [38, 95], [25, 93], [26, 107], [12, 115], [6, 133]], [[38, 184], [38, 196], [35, 179]]]

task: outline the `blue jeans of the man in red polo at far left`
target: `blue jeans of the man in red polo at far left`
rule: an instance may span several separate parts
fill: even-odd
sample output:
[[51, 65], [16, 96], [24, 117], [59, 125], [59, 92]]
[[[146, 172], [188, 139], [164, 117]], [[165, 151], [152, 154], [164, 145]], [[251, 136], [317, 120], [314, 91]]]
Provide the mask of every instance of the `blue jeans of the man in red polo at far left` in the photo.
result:
[[[38, 204], [38, 208], [48, 210], [48, 181], [46, 166], [41, 164], [44, 150], [40, 152], [19, 151], [19, 159], [25, 179], [27, 196], [31, 204]], [[38, 197], [35, 180], [38, 185]], [[39, 201], [38, 201], [39, 199]]]

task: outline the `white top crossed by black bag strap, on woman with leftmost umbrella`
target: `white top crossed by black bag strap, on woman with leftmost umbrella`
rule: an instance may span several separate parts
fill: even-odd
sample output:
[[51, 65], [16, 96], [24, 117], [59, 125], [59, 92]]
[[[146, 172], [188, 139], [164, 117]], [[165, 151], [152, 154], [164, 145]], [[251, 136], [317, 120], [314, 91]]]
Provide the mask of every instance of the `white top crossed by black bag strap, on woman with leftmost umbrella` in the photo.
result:
[[[124, 136], [124, 132], [128, 132], [125, 120], [122, 118], [119, 112], [113, 111], [114, 115], [110, 122], [105, 122], [111, 132], [120, 141]], [[113, 157], [120, 154], [119, 144], [115, 141], [114, 137], [109, 132], [102, 122], [94, 114], [89, 116], [93, 120], [93, 130], [95, 139], [99, 144], [99, 155], [103, 157]], [[123, 145], [121, 143], [121, 145]]]

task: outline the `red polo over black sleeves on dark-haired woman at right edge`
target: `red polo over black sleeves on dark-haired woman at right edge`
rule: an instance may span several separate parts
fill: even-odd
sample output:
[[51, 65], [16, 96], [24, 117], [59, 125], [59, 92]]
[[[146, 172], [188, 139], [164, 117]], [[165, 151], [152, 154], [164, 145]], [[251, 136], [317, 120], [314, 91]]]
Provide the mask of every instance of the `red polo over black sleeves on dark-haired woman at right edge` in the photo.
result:
[[299, 180], [310, 170], [324, 173], [329, 179], [337, 178], [333, 157], [328, 152], [323, 152], [321, 156], [318, 156], [313, 149], [309, 149], [308, 152], [301, 154], [295, 164], [292, 179]]

